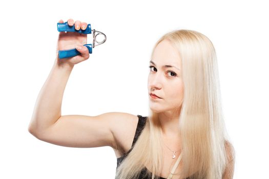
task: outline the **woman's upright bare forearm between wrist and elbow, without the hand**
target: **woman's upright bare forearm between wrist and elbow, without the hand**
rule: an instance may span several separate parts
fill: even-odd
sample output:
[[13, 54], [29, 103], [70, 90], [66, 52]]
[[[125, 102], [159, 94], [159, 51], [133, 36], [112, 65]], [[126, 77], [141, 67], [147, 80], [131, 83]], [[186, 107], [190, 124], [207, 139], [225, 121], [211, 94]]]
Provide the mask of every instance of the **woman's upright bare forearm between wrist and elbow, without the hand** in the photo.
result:
[[53, 125], [61, 116], [61, 102], [74, 65], [55, 60], [34, 106], [28, 130], [36, 135]]

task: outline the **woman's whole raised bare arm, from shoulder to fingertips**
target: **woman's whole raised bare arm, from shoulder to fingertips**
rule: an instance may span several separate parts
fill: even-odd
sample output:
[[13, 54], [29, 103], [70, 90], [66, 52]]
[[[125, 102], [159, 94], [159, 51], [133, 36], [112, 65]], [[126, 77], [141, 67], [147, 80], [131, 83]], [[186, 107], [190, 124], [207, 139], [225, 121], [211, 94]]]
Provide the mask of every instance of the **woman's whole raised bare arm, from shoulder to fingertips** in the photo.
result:
[[[68, 23], [70, 24], [71, 21], [72, 19], [68, 20]], [[59, 22], [63, 23], [62, 20]], [[81, 25], [79, 21], [76, 23]], [[57, 51], [74, 48], [77, 44], [85, 44], [85, 41], [87, 42], [85, 34], [60, 32]], [[87, 47], [79, 51], [81, 55], [69, 59], [56, 58], [53, 68], [38, 94], [28, 130], [36, 138], [56, 145], [67, 147], [111, 146], [118, 149], [121, 143], [126, 142], [126, 135], [123, 133], [126, 134], [130, 129], [135, 129], [137, 116], [117, 112], [98, 116], [61, 116], [61, 102], [74, 64], [89, 58]]]

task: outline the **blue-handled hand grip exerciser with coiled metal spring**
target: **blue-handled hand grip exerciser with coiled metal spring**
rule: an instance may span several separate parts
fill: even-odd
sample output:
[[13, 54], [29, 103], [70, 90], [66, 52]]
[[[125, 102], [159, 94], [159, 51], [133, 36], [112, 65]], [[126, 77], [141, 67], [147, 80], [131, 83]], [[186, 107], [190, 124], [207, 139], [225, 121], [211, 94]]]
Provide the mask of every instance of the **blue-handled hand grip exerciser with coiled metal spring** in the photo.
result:
[[[59, 32], [77, 32], [80, 34], [91, 34], [93, 31], [93, 44], [84, 44], [83, 45], [83, 46], [88, 48], [90, 54], [92, 53], [92, 48], [94, 48], [95, 46], [99, 46], [99, 44], [102, 44], [107, 40], [107, 36], [104, 33], [96, 31], [95, 29], [92, 30], [90, 24], [88, 24], [88, 26], [85, 30], [82, 30], [82, 29], [76, 30], [75, 25], [69, 26], [67, 22], [57, 23], [57, 29]], [[98, 33], [95, 34], [95, 32], [98, 32]], [[105, 39], [101, 42], [98, 42], [96, 40], [96, 36], [99, 34], [102, 34], [105, 37]], [[96, 45], [95, 42], [98, 44]], [[69, 58], [69, 57], [74, 57], [74, 56], [79, 55], [79, 54], [80, 54], [80, 52], [78, 52], [76, 49], [59, 50], [59, 58]]]

